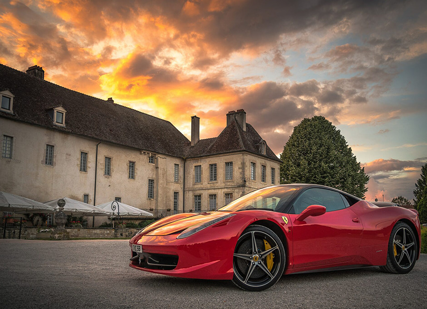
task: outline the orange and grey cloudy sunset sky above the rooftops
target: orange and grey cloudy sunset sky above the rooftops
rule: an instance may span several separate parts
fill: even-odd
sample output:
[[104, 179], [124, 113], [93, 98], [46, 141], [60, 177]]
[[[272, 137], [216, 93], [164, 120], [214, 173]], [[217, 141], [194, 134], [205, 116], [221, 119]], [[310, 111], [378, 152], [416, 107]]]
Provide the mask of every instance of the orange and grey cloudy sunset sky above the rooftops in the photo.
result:
[[245, 109], [279, 155], [324, 115], [370, 176], [412, 201], [427, 161], [427, 2], [0, 0], [0, 62], [217, 136]]

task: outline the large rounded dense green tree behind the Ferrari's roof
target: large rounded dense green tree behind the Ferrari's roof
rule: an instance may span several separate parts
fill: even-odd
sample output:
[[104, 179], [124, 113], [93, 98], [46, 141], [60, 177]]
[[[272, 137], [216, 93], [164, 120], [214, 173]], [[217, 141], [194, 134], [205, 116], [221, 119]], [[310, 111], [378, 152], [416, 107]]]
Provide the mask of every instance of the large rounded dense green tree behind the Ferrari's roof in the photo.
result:
[[280, 155], [280, 183], [325, 185], [363, 198], [369, 176], [340, 130], [325, 117], [304, 118]]

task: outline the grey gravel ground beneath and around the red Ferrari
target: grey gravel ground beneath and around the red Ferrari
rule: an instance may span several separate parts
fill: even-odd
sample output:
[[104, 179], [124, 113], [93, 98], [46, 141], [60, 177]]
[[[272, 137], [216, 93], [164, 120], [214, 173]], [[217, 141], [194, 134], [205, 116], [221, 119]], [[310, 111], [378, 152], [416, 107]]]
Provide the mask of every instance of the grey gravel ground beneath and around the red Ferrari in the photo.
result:
[[427, 254], [378, 267], [283, 276], [262, 292], [130, 268], [127, 240], [0, 239], [0, 308], [425, 308]]

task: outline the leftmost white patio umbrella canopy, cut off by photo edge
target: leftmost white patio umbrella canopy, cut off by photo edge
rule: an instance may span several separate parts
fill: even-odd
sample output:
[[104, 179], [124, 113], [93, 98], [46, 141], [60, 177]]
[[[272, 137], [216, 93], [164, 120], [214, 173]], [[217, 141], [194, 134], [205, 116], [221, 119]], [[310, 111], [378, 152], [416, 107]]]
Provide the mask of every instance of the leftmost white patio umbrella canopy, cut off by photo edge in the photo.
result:
[[0, 192], [0, 211], [15, 213], [53, 213], [55, 209], [31, 199], [19, 195]]

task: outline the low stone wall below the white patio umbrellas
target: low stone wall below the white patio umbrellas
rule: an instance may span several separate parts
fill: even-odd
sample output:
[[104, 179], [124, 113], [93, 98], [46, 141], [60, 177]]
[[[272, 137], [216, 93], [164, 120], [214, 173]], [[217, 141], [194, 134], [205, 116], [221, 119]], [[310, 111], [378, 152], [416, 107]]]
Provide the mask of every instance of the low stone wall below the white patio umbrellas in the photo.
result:
[[[50, 239], [50, 232], [39, 232], [40, 228], [25, 227], [21, 231], [22, 239]], [[139, 228], [67, 228], [70, 238], [95, 238], [95, 239], [115, 239], [132, 238]], [[2, 229], [3, 237], [3, 229]], [[8, 228], [6, 238], [18, 238], [19, 228]]]

